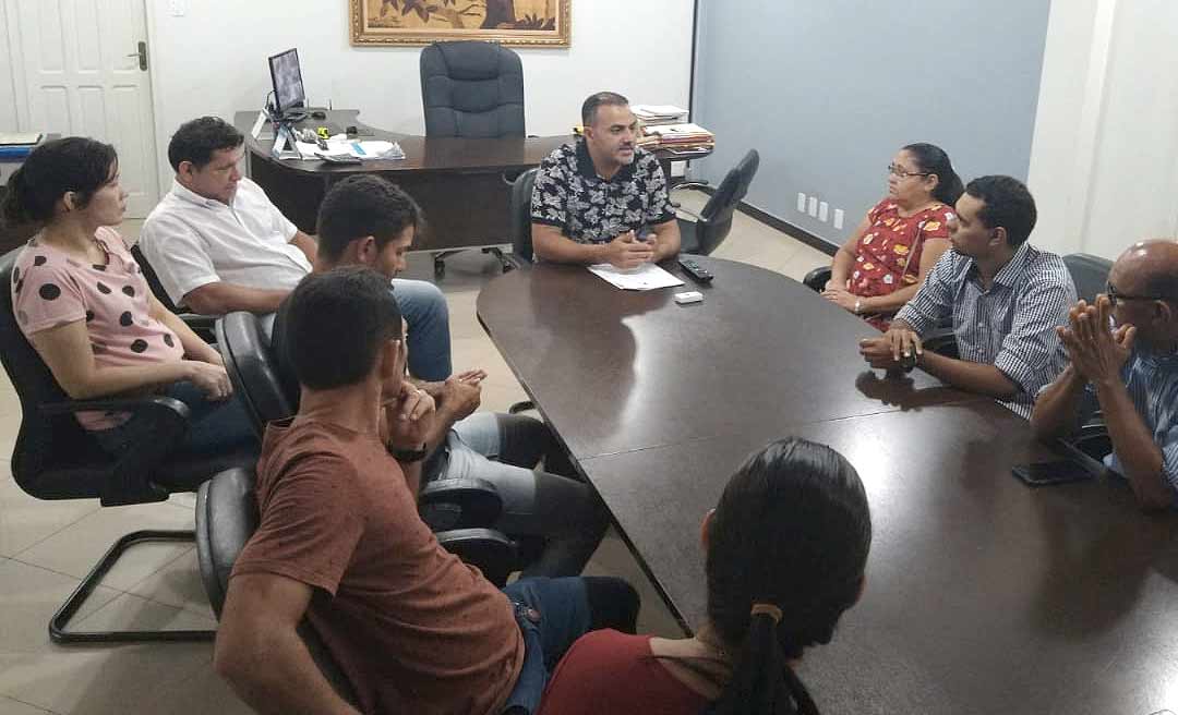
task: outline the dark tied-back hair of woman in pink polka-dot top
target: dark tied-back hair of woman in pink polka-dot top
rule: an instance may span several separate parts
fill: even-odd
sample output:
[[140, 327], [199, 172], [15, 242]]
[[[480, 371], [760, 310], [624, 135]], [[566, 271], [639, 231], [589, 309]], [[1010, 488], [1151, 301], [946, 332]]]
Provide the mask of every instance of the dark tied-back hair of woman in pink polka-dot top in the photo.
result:
[[84, 137], [46, 141], [33, 150], [8, 180], [0, 205], [4, 223], [47, 224], [53, 219], [58, 200], [74, 192], [74, 203], [85, 208], [94, 192], [105, 186], [117, 171], [114, 147]]

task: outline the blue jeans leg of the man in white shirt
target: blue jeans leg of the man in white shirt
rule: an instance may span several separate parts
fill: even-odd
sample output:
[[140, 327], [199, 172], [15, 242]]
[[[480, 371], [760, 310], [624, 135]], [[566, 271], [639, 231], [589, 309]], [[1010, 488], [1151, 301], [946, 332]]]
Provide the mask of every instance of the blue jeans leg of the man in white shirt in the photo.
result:
[[392, 294], [409, 324], [409, 373], [429, 382], [450, 377], [450, 310], [442, 290], [426, 280], [393, 278]]

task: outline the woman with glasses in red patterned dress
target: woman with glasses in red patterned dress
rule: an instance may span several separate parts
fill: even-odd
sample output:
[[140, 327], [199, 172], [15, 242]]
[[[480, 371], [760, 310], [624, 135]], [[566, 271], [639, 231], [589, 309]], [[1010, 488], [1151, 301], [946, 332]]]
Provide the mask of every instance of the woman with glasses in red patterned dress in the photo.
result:
[[949, 247], [949, 219], [965, 192], [948, 154], [909, 144], [887, 167], [888, 196], [834, 254], [822, 296], [887, 330]]

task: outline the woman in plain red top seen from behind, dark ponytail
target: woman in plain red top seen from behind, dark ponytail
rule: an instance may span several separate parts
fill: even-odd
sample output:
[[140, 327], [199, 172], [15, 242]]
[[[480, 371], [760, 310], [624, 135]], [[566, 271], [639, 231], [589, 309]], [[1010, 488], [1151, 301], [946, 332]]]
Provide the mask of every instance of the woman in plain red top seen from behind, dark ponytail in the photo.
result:
[[788, 438], [750, 456], [703, 519], [707, 621], [691, 638], [583, 636], [541, 715], [815, 715], [793, 666], [863, 588], [872, 541], [855, 469]]

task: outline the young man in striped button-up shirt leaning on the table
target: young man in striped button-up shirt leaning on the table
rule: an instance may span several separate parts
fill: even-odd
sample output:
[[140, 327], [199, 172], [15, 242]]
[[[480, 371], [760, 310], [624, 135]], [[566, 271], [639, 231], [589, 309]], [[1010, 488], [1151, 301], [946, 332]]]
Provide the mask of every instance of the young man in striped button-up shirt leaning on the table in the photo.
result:
[[[920, 366], [961, 390], [994, 397], [1020, 417], [1067, 362], [1055, 335], [1076, 287], [1063, 259], [1026, 243], [1034, 198], [1011, 177], [969, 181], [949, 221], [951, 251], [879, 338], [860, 342], [872, 368]], [[960, 359], [925, 351], [921, 338], [953, 322]]]

